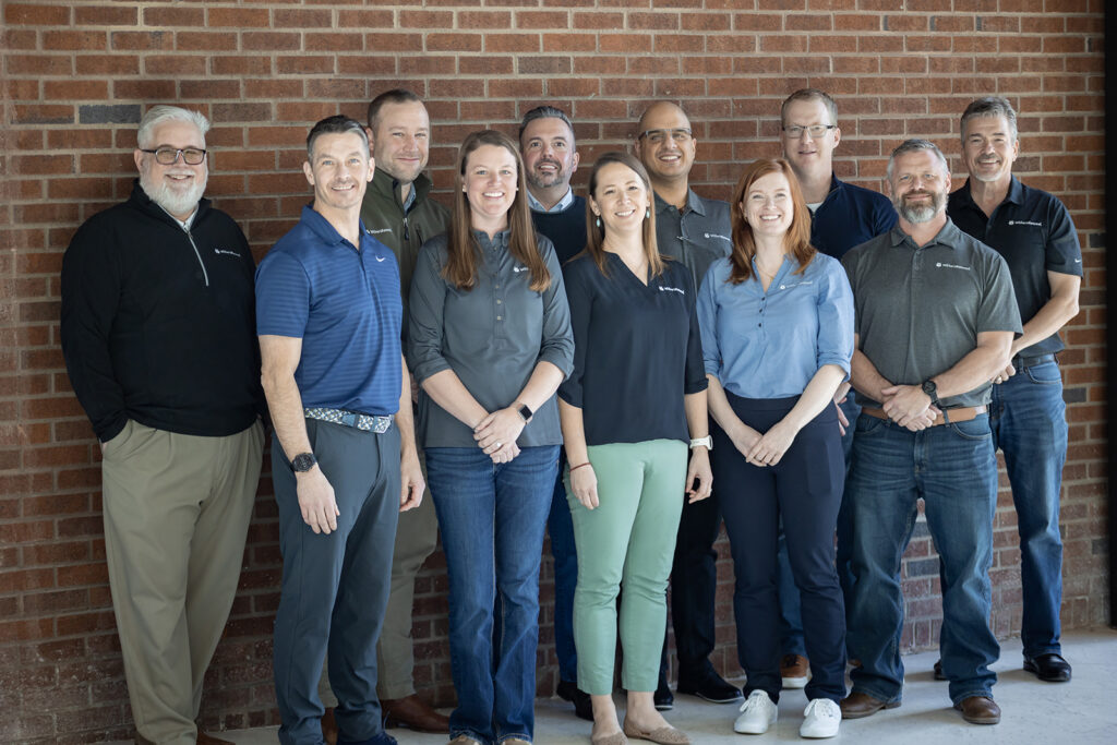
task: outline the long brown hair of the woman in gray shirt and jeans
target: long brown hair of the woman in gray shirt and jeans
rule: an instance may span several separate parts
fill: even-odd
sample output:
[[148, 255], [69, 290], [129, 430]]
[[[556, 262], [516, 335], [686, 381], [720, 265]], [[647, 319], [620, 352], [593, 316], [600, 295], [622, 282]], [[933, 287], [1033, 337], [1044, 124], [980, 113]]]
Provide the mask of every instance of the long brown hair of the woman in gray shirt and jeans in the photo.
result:
[[516, 159], [516, 195], [508, 208], [508, 251], [532, 273], [528, 288], [542, 293], [551, 286], [551, 273], [540, 255], [535, 241], [535, 226], [527, 209], [527, 182], [524, 176], [524, 160], [519, 149], [506, 134], [495, 130], [470, 132], [458, 150], [458, 168], [454, 176], [454, 211], [447, 235], [447, 261], [442, 277], [458, 289], [472, 289], [477, 281], [477, 265], [480, 261], [480, 246], [474, 238], [469, 200], [465, 185], [466, 163], [469, 154], [483, 145], [504, 147]]

